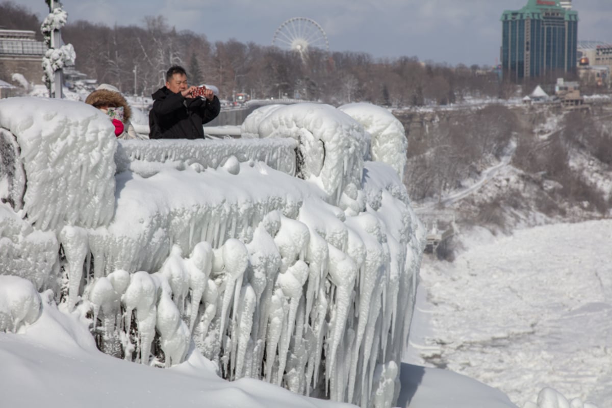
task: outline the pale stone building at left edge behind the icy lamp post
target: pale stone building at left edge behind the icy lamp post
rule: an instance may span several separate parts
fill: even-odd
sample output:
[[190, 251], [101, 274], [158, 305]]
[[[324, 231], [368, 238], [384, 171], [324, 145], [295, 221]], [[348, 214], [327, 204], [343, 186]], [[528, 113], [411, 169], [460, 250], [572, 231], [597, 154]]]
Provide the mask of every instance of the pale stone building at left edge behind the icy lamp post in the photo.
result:
[[26, 80], [42, 83], [42, 57], [47, 46], [35, 40], [34, 31], [0, 29], [0, 75], [9, 80], [12, 73], [21, 73]]

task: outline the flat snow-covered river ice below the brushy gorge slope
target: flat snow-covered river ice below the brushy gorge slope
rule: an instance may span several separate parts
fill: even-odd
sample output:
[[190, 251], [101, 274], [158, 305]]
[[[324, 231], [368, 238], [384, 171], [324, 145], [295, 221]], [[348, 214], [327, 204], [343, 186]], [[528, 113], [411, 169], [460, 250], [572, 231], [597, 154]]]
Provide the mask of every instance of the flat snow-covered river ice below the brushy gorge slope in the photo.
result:
[[480, 380], [518, 406], [550, 386], [612, 407], [612, 221], [468, 238], [454, 263], [424, 260], [405, 361]]

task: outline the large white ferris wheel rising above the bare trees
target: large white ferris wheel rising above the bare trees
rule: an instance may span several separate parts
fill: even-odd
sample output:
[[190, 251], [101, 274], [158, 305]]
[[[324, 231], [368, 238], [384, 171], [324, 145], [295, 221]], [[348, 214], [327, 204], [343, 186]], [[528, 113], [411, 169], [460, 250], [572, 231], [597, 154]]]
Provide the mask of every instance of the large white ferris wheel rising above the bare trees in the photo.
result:
[[329, 51], [327, 34], [316, 21], [305, 17], [289, 18], [274, 32], [272, 45], [282, 50], [297, 51], [302, 57], [308, 53], [308, 48], [321, 48]]

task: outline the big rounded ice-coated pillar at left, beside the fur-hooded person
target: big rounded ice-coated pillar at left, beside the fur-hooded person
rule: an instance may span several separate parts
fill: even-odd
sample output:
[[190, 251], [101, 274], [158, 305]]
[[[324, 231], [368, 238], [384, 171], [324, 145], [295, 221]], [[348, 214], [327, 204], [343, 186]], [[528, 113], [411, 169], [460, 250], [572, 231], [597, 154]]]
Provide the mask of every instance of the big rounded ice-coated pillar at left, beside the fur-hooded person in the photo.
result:
[[117, 143], [105, 114], [81, 102], [10, 98], [0, 101], [0, 127], [21, 149], [30, 223], [48, 230], [111, 220]]

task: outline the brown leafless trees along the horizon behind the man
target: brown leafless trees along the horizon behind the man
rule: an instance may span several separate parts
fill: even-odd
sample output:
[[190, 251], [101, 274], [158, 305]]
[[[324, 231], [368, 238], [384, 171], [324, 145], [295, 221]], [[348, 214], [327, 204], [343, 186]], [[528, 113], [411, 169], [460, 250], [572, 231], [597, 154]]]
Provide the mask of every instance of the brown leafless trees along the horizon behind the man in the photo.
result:
[[[24, 7], [3, 2], [0, 26], [39, 31], [40, 21]], [[406, 106], [503, 93], [497, 76], [476, 65], [450, 67], [424, 64], [416, 57], [374, 59], [365, 53], [317, 49], [302, 58], [234, 39], [211, 43], [204, 34], [176, 31], [161, 16], [145, 17], [140, 26], [69, 20], [62, 37], [75, 48], [77, 70], [129, 94], [151, 94], [163, 85], [163, 74], [173, 64], [187, 69], [190, 82], [214, 84], [228, 99], [234, 92], [246, 92], [255, 98]]]

